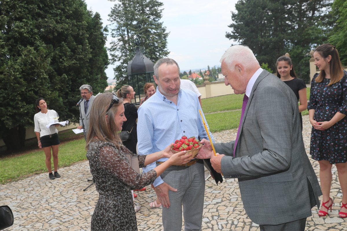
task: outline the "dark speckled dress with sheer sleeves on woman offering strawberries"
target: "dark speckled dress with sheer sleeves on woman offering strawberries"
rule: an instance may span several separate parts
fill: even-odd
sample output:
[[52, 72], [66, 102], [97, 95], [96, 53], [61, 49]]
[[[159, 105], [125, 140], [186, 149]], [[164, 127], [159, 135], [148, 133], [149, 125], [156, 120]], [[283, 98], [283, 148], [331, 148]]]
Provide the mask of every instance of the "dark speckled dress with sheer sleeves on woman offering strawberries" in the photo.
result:
[[99, 199], [92, 216], [91, 231], [137, 230], [131, 189], [152, 184], [156, 172], [138, 174], [129, 165], [125, 154], [138, 157], [144, 167], [146, 156], [133, 154], [124, 146], [117, 148], [109, 142], [95, 140], [88, 146], [87, 158], [95, 180]]

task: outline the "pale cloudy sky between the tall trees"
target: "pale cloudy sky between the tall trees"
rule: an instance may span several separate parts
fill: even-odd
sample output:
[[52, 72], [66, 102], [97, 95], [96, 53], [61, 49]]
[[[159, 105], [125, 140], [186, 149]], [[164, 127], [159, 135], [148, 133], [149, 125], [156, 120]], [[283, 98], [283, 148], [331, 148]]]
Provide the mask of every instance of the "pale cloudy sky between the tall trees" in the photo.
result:
[[[220, 66], [220, 57], [235, 42], [225, 37], [230, 32], [231, 11], [235, 12], [237, 0], [159, 0], [164, 3], [163, 26], [170, 32], [167, 38], [168, 57], [176, 60], [180, 69], [207, 69]], [[116, 2], [108, 0], [85, 0], [87, 9], [99, 12], [103, 26], [109, 25], [108, 14]], [[110, 27], [110, 26], [109, 26]], [[110, 47], [112, 37], [107, 37]], [[108, 79], [113, 79], [113, 68], [106, 70]]]

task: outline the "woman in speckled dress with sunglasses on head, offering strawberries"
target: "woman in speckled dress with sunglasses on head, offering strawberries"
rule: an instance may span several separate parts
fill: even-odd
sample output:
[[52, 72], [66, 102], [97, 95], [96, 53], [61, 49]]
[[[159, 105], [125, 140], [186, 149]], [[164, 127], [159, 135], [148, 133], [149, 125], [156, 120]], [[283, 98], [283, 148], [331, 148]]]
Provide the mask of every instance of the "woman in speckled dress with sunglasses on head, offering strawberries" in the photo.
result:
[[[123, 122], [127, 120], [123, 99], [112, 93], [98, 95], [90, 110], [86, 156], [99, 193], [91, 230], [137, 230], [131, 189], [152, 184], [169, 166], [185, 164], [192, 158], [184, 156], [185, 152], [172, 154], [171, 145], [145, 156], [130, 152], [119, 137]], [[138, 174], [130, 166], [126, 154], [137, 157], [139, 167], [162, 157], [170, 159], [149, 172]]]

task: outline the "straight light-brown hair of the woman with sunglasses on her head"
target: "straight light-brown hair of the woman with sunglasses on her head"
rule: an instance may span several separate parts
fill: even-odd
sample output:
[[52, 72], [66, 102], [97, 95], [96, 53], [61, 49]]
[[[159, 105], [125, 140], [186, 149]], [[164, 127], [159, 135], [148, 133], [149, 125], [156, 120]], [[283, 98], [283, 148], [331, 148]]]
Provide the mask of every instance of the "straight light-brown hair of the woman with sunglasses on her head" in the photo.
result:
[[[111, 102], [113, 94], [106, 92], [95, 97], [93, 105], [89, 112], [89, 130], [87, 131], [86, 150], [94, 137], [104, 142], [110, 142], [117, 147], [123, 146], [119, 131], [115, 124], [115, 115], [119, 105], [123, 105], [123, 98], [119, 98], [118, 102], [114, 102], [112, 107], [107, 111]], [[106, 115], [108, 118], [106, 119]]]

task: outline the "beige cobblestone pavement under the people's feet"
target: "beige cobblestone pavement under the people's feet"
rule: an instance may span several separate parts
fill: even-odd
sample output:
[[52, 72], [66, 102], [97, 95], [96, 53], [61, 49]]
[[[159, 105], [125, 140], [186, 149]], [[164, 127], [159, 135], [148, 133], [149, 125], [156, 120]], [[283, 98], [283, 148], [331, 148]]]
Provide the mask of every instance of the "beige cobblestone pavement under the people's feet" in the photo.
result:
[[[311, 125], [308, 116], [303, 116], [303, 123], [304, 142], [309, 153]], [[217, 142], [228, 142], [235, 139], [236, 132], [228, 130], [213, 135]], [[318, 175], [318, 163], [312, 160], [311, 163]], [[61, 178], [54, 180], [49, 180], [45, 173], [0, 186], [0, 204], [9, 205], [15, 216], [14, 225], [6, 230], [90, 230], [98, 193], [94, 185], [83, 191], [89, 184], [86, 179], [91, 177], [88, 161], [60, 168], [59, 173]], [[149, 206], [156, 198], [154, 190], [149, 186], [146, 191], [137, 193], [135, 202], [141, 205], [137, 213], [138, 230], [162, 230], [161, 208]], [[334, 198], [333, 211], [320, 218], [313, 208], [306, 230], [347, 230], [347, 220], [338, 216], [342, 194], [335, 166], [331, 197]], [[206, 181], [202, 230], [259, 230], [244, 211], [237, 180], [227, 179], [218, 186], [211, 178]]]

